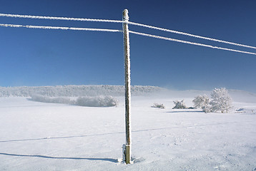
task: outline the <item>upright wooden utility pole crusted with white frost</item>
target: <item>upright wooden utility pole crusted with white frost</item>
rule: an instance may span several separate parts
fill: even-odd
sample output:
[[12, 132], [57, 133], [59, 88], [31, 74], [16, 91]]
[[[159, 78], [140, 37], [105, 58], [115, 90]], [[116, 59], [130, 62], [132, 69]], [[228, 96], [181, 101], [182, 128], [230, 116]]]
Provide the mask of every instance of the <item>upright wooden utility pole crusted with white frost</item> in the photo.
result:
[[[129, 21], [128, 10], [123, 11], [123, 21]], [[123, 145], [123, 159], [126, 164], [131, 163], [131, 78], [130, 78], [130, 58], [129, 58], [129, 29], [128, 24], [123, 23], [124, 31], [124, 68], [125, 68], [125, 130], [126, 144]]]

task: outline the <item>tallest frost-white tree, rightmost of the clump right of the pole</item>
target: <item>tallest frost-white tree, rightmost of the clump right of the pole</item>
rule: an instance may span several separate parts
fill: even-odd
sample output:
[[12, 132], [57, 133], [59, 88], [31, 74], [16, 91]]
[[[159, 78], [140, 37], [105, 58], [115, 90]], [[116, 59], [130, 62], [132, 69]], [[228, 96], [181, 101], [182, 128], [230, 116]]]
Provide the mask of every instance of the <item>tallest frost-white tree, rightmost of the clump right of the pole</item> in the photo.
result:
[[230, 95], [227, 93], [226, 88], [215, 88], [212, 90], [210, 101], [211, 111], [221, 113], [227, 113], [228, 110], [232, 108], [232, 99]]

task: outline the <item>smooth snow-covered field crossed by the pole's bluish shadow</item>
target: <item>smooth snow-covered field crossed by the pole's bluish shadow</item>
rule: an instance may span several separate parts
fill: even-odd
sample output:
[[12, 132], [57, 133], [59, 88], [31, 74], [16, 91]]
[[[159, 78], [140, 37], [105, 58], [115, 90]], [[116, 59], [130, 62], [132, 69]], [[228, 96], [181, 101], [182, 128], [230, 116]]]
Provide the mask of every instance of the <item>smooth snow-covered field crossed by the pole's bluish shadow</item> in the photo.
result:
[[124, 97], [109, 108], [2, 97], [0, 170], [256, 170], [256, 95], [230, 90], [230, 113], [172, 109], [204, 93], [132, 96], [132, 165], [120, 162]]

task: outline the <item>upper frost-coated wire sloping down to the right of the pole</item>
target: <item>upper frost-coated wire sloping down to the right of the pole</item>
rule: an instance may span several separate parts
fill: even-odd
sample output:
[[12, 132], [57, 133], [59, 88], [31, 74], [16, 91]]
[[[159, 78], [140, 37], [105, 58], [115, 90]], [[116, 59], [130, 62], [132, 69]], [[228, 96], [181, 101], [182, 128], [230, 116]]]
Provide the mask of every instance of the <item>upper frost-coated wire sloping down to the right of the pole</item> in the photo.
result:
[[217, 41], [217, 42], [220, 42], [220, 43], [227, 43], [227, 44], [231, 44], [231, 45], [235, 45], [235, 46], [242, 46], [242, 47], [245, 47], [245, 48], [254, 48], [254, 49], [256, 49], [255, 46], [247, 46], [247, 45], [240, 44], [240, 43], [233, 43], [233, 42], [230, 42], [230, 41], [222, 41], [222, 40], [218, 40], [216, 38], [197, 36], [197, 35], [191, 34], [191, 33], [184, 33], [184, 32], [181, 32], [181, 31], [174, 31], [174, 30], [169, 30], [169, 29], [166, 29], [166, 28], [159, 28], [159, 27], [156, 27], [156, 26], [148, 26], [148, 25], [145, 25], [145, 24], [138, 24], [138, 23], [134, 23], [134, 22], [130, 22], [130, 21], [125, 21], [125, 22], [127, 24], [131, 24], [131, 25], [134, 25], [134, 26], [143, 26], [143, 27], [147, 27], [147, 28], [157, 29], [159, 31], [167, 31], [167, 32], [170, 32], [170, 33], [182, 34], [184, 36], [191, 36], [191, 37], [195, 37], [195, 38], [202, 38], [202, 39], [209, 40], [209, 41]]

